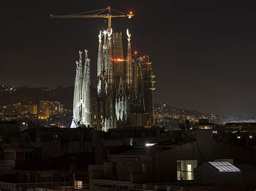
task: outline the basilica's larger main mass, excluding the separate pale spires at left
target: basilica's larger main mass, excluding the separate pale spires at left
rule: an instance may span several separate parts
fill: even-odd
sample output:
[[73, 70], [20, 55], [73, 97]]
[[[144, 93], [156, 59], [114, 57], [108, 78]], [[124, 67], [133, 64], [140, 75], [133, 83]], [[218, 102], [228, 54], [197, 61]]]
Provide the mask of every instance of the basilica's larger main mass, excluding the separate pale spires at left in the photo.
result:
[[122, 33], [113, 33], [111, 29], [100, 31], [98, 35], [97, 112], [94, 117], [96, 128], [103, 131], [153, 122], [154, 76], [151, 63], [148, 56], [132, 58], [131, 34], [128, 29], [126, 35], [126, 58]]

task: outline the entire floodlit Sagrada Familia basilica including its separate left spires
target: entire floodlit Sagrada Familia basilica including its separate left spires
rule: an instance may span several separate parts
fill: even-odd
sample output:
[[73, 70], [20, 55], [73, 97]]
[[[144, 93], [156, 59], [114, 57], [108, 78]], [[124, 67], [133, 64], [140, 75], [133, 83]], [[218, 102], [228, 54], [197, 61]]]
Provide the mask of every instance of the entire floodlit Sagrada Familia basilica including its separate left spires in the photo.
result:
[[122, 33], [112, 29], [99, 32], [97, 90], [91, 85], [88, 52], [79, 51], [71, 128], [93, 127], [106, 132], [153, 124], [155, 81], [151, 62], [149, 56], [132, 54], [128, 29], [126, 35], [124, 57]]

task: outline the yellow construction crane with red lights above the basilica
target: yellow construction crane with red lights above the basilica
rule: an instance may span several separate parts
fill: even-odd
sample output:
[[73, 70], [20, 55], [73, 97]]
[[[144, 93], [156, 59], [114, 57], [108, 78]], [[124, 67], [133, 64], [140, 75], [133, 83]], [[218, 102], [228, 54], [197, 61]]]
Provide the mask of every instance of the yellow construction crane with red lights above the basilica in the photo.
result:
[[[107, 14], [102, 15], [104, 11], [109, 11]], [[116, 11], [118, 13], [121, 13], [122, 15], [112, 15], [111, 10]], [[98, 12], [100, 11], [100, 12]], [[84, 13], [90, 13], [90, 12], [98, 12], [95, 15], [83, 15]], [[107, 24], [107, 31], [110, 32], [111, 30], [111, 18], [116, 18], [116, 17], [128, 17], [132, 18], [134, 15], [131, 12], [129, 14], [125, 14], [123, 12], [111, 9], [110, 6], [105, 8], [105, 9], [99, 9], [95, 11], [87, 11], [87, 12], [80, 12], [80, 13], [75, 13], [71, 15], [50, 15], [50, 18], [107, 18], [108, 24]]]

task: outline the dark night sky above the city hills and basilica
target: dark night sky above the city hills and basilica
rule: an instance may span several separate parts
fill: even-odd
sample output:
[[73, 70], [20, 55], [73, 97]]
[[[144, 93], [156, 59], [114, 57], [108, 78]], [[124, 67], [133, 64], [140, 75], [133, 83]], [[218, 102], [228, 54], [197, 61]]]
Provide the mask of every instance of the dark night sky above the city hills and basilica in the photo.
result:
[[89, 49], [96, 81], [103, 18], [49, 15], [103, 9], [134, 12], [112, 20], [127, 28], [133, 51], [149, 54], [155, 101], [223, 115], [256, 116], [255, 1], [1, 1], [0, 83], [72, 86], [78, 51]]

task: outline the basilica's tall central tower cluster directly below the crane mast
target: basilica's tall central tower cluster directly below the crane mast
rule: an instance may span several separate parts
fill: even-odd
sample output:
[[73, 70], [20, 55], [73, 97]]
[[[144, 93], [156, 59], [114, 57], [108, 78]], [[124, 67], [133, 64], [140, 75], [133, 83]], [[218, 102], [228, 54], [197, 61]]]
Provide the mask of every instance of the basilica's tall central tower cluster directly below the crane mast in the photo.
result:
[[[121, 33], [99, 32], [97, 63], [97, 128], [125, 126], [129, 118], [129, 97], [126, 95], [125, 62]], [[102, 38], [104, 42], [102, 43]]]

